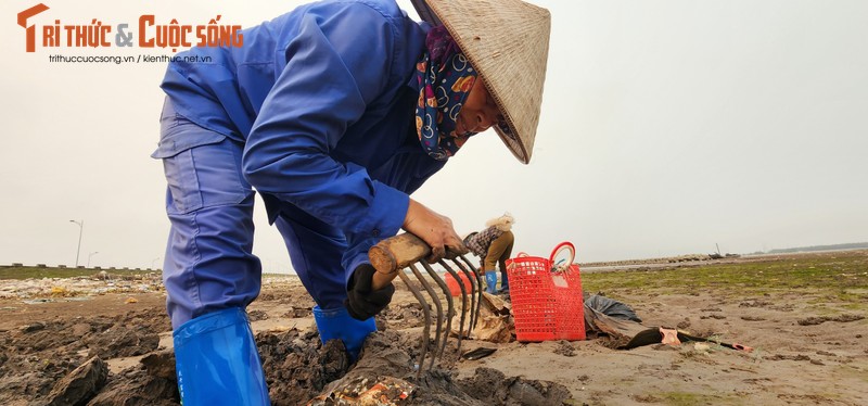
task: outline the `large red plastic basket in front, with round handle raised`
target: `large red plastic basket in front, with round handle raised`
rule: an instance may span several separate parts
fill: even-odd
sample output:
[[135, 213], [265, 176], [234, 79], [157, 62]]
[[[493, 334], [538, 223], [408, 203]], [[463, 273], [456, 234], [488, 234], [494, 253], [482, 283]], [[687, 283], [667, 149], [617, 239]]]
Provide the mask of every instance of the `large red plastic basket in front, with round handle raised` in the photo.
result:
[[[556, 254], [575, 248], [562, 242], [551, 256], [519, 256], [507, 259], [515, 337], [521, 342], [585, 340], [585, 302], [577, 264], [554, 269]], [[554, 271], [553, 271], [554, 269]]]

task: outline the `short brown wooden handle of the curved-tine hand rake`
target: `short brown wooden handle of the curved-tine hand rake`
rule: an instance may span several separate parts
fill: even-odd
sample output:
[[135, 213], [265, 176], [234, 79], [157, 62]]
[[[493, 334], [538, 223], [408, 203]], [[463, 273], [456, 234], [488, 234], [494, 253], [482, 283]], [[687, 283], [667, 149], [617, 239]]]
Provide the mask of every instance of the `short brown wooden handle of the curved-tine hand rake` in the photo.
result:
[[380, 290], [388, 286], [400, 269], [431, 255], [431, 248], [409, 232], [387, 238], [368, 250], [368, 258], [376, 272], [371, 288]]

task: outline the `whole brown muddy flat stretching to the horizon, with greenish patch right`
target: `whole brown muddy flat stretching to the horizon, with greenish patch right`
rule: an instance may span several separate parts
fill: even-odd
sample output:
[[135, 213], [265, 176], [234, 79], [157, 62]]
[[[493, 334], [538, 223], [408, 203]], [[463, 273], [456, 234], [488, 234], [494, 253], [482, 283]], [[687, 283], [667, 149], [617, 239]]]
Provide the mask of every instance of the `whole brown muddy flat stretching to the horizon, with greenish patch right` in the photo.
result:
[[[10, 288], [22, 282], [0, 281], [0, 404], [178, 404], [158, 287], [52, 290], [74, 281], [30, 280], [25, 296]], [[416, 379], [421, 307], [400, 283], [355, 365], [339, 343], [320, 345], [297, 279], [269, 279], [248, 310], [276, 405], [349, 404], [374, 392], [398, 405], [868, 404], [868, 252], [592, 272], [583, 283], [629, 304], [643, 325], [754, 351], [464, 340], [462, 353], [496, 350], [468, 360], [452, 338]]]

